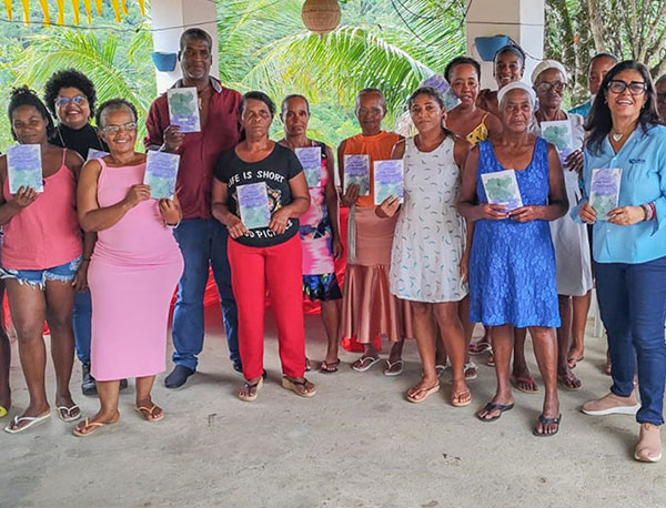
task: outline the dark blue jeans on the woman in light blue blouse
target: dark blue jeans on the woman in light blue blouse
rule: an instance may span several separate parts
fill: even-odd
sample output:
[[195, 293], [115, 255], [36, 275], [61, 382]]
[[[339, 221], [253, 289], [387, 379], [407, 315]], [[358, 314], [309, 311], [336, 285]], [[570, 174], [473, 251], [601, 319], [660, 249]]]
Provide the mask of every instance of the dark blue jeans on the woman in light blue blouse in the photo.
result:
[[664, 423], [666, 257], [646, 263], [596, 263], [597, 295], [613, 362], [610, 390], [628, 397], [636, 360], [640, 424]]

